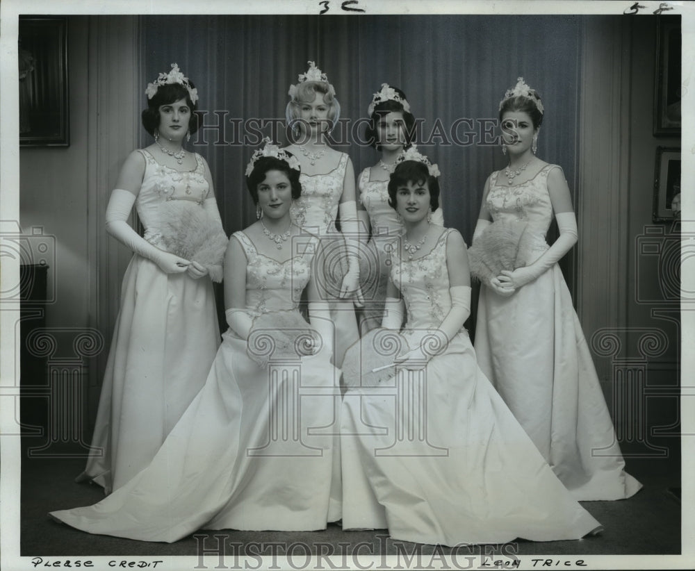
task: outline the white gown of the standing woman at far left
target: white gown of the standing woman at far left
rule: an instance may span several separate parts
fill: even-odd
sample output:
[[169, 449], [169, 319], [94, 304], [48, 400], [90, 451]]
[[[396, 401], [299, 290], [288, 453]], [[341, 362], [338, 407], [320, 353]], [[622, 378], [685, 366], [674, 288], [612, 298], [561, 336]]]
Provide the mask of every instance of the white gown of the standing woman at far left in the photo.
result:
[[[145, 174], [136, 208], [145, 239], [156, 244], [167, 203], [202, 204], [209, 188], [198, 154], [189, 172], [160, 165], [145, 150], [140, 154]], [[99, 454], [90, 456], [78, 481], [92, 480], [110, 493], [142, 470], [203, 386], [218, 345], [210, 279], [165, 274], [134, 254], [123, 277], [92, 436]]]

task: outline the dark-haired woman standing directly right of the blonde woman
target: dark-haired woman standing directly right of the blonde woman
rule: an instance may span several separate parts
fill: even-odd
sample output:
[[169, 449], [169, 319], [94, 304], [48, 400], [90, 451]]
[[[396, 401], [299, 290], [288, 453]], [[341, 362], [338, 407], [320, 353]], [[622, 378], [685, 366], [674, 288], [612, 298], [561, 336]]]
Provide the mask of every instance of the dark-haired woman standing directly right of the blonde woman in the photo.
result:
[[[389, 176], [395, 160], [415, 136], [415, 117], [404, 92], [388, 83], [376, 92], [367, 109], [369, 123], [366, 140], [380, 154], [379, 161], [357, 177], [358, 215], [370, 229], [367, 250], [360, 256], [360, 284], [364, 307], [360, 313], [360, 333], [364, 335], [381, 324], [386, 285], [389, 283], [389, 252], [398, 247], [402, 222], [389, 206]], [[444, 225], [441, 204], [432, 213], [432, 224]]]

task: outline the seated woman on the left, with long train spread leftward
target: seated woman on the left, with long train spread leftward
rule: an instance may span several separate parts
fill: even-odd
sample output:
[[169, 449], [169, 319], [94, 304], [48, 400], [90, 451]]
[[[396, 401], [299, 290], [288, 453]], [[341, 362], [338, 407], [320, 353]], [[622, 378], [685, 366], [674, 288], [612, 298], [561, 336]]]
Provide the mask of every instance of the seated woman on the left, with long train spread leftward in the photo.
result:
[[[204, 387], [144, 470], [98, 504], [54, 518], [89, 533], [171, 543], [197, 529], [309, 531], [340, 517], [333, 437], [311, 431], [332, 419], [339, 372], [313, 279], [318, 238], [289, 215], [299, 174], [275, 145], [256, 151], [247, 185], [261, 217], [229, 240], [229, 329]], [[304, 288], [311, 326], [297, 310]]]

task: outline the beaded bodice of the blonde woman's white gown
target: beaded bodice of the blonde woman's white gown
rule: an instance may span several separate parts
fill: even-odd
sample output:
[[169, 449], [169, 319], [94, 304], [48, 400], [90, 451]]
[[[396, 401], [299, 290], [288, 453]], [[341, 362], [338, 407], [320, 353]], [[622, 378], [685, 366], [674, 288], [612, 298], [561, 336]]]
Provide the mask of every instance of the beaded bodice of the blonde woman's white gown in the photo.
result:
[[300, 174], [302, 195], [290, 210], [292, 222], [320, 235], [335, 229], [338, 204], [343, 195], [347, 154], [326, 174]]

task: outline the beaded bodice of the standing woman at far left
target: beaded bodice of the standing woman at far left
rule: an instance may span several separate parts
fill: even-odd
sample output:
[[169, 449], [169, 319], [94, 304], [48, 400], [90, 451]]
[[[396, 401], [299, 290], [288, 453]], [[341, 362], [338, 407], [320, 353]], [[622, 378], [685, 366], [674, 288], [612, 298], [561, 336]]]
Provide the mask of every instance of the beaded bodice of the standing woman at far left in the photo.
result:
[[205, 179], [205, 163], [195, 153], [195, 169], [178, 171], [158, 163], [145, 149], [139, 149], [145, 158], [145, 174], [136, 199], [140, 222], [145, 226], [145, 240], [155, 241], [165, 224], [160, 217], [161, 204], [172, 200], [186, 200], [201, 206], [210, 192]]

